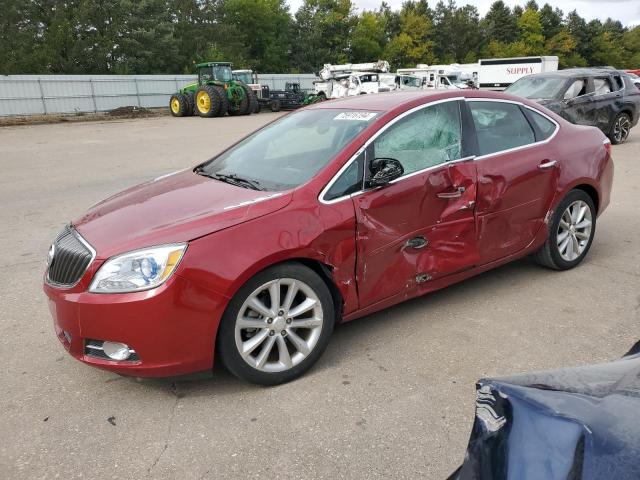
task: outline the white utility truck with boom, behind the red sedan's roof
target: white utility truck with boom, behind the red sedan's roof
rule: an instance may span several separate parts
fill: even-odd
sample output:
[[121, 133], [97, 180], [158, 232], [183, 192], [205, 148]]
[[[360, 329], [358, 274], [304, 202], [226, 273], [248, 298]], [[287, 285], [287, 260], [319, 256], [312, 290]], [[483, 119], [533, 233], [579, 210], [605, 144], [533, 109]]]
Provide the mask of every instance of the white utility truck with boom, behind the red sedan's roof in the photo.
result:
[[314, 93], [324, 98], [341, 98], [392, 90], [383, 81], [382, 74], [389, 72], [389, 63], [379, 60], [372, 63], [325, 64], [314, 82]]

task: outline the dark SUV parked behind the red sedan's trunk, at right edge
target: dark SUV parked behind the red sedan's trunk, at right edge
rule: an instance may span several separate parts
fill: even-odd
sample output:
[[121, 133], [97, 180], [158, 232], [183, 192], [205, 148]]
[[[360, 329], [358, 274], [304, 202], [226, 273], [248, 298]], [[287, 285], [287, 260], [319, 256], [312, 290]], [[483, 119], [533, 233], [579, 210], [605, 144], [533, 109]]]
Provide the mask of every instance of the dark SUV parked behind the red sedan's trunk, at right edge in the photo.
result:
[[640, 90], [628, 74], [608, 68], [528, 75], [505, 92], [534, 100], [577, 125], [598, 127], [613, 144], [627, 140], [640, 114]]

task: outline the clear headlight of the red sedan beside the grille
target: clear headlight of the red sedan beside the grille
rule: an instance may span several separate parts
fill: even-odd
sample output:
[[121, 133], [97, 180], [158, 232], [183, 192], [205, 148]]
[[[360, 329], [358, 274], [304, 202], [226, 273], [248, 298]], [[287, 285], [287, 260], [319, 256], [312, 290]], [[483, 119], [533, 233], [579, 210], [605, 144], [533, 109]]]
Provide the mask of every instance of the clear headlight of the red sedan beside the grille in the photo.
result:
[[175, 243], [112, 257], [95, 274], [89, 291], [122, 293], [158, 287], [171, 276], [186, 248], [186, 243]]

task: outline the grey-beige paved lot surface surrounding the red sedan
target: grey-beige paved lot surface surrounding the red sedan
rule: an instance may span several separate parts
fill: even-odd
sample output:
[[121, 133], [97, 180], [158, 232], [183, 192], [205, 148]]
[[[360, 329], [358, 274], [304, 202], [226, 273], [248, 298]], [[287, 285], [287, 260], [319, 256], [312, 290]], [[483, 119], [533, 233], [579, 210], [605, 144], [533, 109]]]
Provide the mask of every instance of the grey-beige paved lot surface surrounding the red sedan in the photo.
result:
[[276, 388], [217, 367], [137, 381], [69, 357], [41, 289], [65, 222], [276, 116], [0, 129], [0, 477], [442, 479], [463, 459], [476, 379], [606, 361], [640, 338], [637, 128], [613, 147], [612, 202], [577, 269], [525, 259], [356, 320]]

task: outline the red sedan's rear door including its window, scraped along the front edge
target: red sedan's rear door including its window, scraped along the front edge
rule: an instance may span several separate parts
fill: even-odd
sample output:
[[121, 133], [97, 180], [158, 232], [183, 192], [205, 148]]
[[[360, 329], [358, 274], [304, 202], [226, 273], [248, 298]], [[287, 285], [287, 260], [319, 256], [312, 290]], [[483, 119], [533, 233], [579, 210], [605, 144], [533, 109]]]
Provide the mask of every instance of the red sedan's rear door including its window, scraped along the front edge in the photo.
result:
[[544, 223], [558, 178], [546, 116], [508, 101], [469, 100], [479, 156], [477, 248], [483, 264], [525, 248]]

